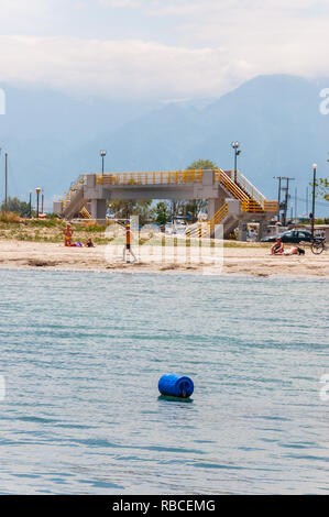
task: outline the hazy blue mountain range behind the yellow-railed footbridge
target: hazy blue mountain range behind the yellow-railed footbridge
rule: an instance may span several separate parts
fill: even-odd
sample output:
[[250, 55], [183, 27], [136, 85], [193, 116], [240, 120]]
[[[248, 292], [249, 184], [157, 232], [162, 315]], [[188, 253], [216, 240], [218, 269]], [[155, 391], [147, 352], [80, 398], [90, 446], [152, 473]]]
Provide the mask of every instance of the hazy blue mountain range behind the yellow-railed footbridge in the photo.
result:
[[[329, 116], [320, 113], [326, 81], [293, 76], [260, 76], [219, 99], [182, 102], [69, 98], [43, 88], [2, 85], [0, 194], [3, 153], [9, 154], [9, 194], [28, 198], [45, 190], [47, 208], [80, 173], [186, 168], [209, 158], [233, 168], [232, 141], [239, 141], [238, 168], [271, 199], [274, 176], [294, 177], [298, 210], [306, 211], [311, 165], [328, 177]], [[310, 189], [309, 189], [310, 190]], [[326, 202], [319, 204], [320, 211]]]

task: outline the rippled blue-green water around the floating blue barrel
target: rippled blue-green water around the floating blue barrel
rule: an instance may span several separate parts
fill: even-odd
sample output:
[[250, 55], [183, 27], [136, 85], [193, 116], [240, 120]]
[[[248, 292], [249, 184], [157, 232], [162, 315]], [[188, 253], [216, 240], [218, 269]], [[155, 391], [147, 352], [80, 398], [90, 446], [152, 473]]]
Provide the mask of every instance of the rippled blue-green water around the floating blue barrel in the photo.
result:
[[[0, 493], [329, 493], [328, 280], [0, 285]], [[167, 372], [191, 376], [191, 404], [158, 399]]]

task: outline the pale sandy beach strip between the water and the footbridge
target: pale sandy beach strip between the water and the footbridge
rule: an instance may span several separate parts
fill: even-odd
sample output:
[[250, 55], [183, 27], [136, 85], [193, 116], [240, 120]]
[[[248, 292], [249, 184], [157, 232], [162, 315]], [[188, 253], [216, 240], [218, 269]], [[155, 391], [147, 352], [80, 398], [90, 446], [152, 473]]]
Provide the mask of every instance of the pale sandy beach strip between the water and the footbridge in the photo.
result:
[[[62, 244], [21, 241], [0, 241], [0, 267], [2, 268], [47, 268], [63, 271], [124, 271], [124, 272], [171, 272], [223, 273], [254, 276], [294, 275], [329, 276], [329, 253], [314, 255], [306, 249], [304, 256], [271, 256], [266, 248], [224, 248], [223, 265], [201, 261], [185, 261], [177, 257], [162, 261], [161, 248], [152, 250], [150, 257], [144, 253], [136, 264], [124, 264], [107, 258], [105, 245], [95, 249], [64, 248]], [[121, 253], [121, 249], [119, 250]], [[207, 261], [206, 261], [207, 262]]]

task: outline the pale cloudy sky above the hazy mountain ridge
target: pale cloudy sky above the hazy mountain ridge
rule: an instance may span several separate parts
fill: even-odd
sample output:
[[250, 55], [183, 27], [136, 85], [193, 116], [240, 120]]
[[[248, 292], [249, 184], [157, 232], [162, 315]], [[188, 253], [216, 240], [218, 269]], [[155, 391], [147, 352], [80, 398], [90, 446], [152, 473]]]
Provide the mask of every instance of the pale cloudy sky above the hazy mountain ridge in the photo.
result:
[[0, 86], [74, 97], [220, 97], [329, 75], [328, 0], [0, 0]]

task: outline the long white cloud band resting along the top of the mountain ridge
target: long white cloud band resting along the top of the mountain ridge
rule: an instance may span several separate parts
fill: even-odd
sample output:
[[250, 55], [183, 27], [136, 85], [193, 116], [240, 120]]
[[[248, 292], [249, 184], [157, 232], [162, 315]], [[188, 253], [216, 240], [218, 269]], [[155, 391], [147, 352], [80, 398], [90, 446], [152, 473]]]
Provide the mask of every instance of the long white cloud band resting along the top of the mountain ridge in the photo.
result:
[[[320, 36], [315, 47], [273, 41], [267, 52], [251, 45], [239, 55], [234, 46], [187, 48], [141, 41], [1, 36], [0, 45], [1, 76], [8, 81], [140, 98], [218, 96], [262, 73], [317, 75], [327, 53]], [[305, 61], [311, 63], [308, 74]]]

